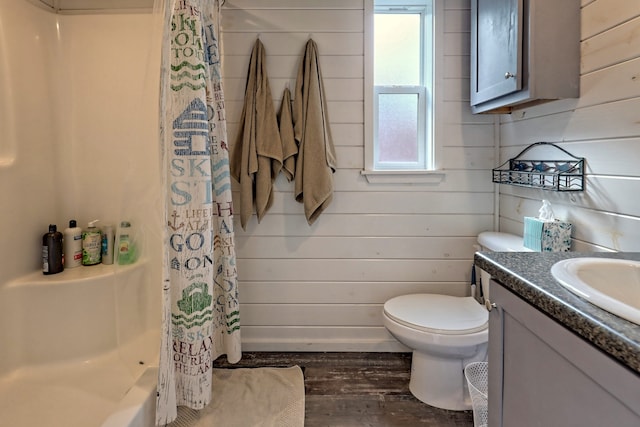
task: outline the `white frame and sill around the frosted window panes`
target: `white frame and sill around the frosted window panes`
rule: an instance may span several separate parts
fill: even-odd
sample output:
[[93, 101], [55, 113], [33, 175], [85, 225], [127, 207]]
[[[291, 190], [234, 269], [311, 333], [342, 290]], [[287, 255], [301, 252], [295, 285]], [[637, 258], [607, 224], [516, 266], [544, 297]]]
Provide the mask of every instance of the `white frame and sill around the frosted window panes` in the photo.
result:
[[[444, 174], [438, 170], [438, 159], [439, 154], [441, 153], [441, 147], [438, 143], [439, 139], [437, 136], [439, 135], [439, 122], [437, 120], [438, 111], [441, 106], [439, 87], [441, 87], [441, 67], [443, 62], [442, 49], [442, 3], [443, 0], [432, 0], [433, 2], [433, 28], [427, 28], [427, 30], [433, 31], [433, 69], [430, 71], [432, 73], [432, 87], [431, 93], [427, 89], [425, 89], [424, 82], [422, 83], [421, 89], [417, 90], [415, 87], [414, 91], [411, 92], [407, 86], [399, 86], [394, 89], [393, 86], [374, 86], [373, 79], [373, 51], [374, 51], [374, 40], [373, 40], [373, 21], [374, 21], [374, 13], [375, 6], [382, 5], [386, 3], [386, 6], [392, 7], [395, 3], [396, 5], [402, 4], [406, 6], [424, 6], [424, 1], [421, 0], [365, 0], [365, 117], [364, 117], [364, 136], [365, 136], [365, 146], [364, 146], [364, 170], [362, 174], [366, 176], [369, 182], [397, 182], [397, 183], [438, 183], [444, 180]], [[384, 3], [383, 3], [384, 2]], [[397, 7], [397, 6], [396, 6]], [[407, 9], [407, 12], [411, 12], [410, 9]], [[415, 12], [414, 12], [415, 13]], [[423, 58], [424, 63], [424, 58]], [[423, 73], [425, 74], [425, 73]], [[429, 77], [428, 73], [426, 73], [427, 77]], [[416, 162], [415, 165], [412, 164], [385, 164], [381, 166], [377, 161], [377, 153], [375, 150], [375, 138], [377, 133], [377, 101], [378, 95], [381, 93], [393, 93], [396, 90], [396, 93], [418, 93], [418, 96], [421, 96], [420, 104], [422, 101], [424, 102], [424, 106], [419, 104], [419, 114], [425, 118], [424, 125], [419, 128], [419, 132], [423, 132], [419, 135], [419, 137], [429, 138], [430, 142], [422, 145], [422, 152], [419, 153], [419, 161]], [[431, 97], [430, 103], [427, 102], [427, 97]], [[432, 114], [427, 115], [428, 105], [432, 108]], [[424, 139], [423, 139], [424, 140]]]

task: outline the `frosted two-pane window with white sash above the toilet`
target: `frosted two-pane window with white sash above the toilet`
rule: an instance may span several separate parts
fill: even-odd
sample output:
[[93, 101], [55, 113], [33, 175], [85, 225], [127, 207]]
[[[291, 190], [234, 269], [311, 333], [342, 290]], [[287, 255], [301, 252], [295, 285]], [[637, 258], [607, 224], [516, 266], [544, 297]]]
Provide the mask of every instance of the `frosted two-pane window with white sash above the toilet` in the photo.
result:
[[434, 170], [433, 2], [365, 2], [365, 175]]

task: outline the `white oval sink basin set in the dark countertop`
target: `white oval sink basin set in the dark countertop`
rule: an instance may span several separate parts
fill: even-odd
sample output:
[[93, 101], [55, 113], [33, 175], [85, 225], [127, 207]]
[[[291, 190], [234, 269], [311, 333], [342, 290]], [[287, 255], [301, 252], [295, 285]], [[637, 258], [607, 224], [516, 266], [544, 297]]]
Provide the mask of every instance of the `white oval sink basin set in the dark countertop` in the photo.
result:
[[616, 316], [640, 325], [640, 262], [572, 258], [555, 263], [551, 274], [562, 286]]

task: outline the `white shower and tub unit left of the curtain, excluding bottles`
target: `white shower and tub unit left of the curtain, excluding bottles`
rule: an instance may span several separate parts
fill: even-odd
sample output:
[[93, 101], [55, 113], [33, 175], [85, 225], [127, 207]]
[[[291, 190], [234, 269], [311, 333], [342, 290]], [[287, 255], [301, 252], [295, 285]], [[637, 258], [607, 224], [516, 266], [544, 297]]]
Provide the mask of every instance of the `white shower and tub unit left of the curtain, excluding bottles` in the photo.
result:
[[[0, 142], [0, 413], [47, 416], [12, 425], [70, 427], [84, 413], [91, 421], [75, 425], [112, 416], [106, 426], [150, 426], [161, 259], [154, 16], [35, 3], [0, 0], [0, 113], [11, 119]], [[137, 225], [144, 262], [42, 275], [48, 224], [96, 218]], [[141, 414], [142, 424], [123, 421]]]

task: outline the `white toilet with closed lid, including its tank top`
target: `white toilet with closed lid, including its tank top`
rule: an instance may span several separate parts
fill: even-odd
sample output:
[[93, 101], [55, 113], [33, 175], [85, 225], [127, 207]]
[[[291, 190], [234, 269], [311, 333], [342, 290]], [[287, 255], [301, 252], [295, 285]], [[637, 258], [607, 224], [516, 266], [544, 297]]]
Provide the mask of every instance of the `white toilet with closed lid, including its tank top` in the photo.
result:
[[[530, 252], [522, 237], [483, 232], [478, 250]], [[489, 275], [482, 273], [488, 296]], [[476, 275], [479, 277], [479, 275]], [[474, 297], [410, 294], [384, 304], [383, 323], [389, 333], [413, 350], [409, 390], [422, 402], [454, 411], [471, 409], [464, 367], [487, 359], [489, 312]]]

